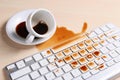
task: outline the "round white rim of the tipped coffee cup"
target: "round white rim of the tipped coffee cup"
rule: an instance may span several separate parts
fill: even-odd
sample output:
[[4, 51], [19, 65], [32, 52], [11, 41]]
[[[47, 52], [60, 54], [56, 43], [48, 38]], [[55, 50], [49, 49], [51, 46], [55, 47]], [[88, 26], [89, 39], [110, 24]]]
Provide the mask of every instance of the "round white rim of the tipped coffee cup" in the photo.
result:
[[[32, 27], [32, 18], [33, 18], [33, 16], [34, 16], [34, 14], [36, 14], [36, 13], [39, 12], [39, 11], [48, 12], [48, 13], [50, 14], [50, 16], [52, 17], [53, 21], [54, 21], [54, 26], [53, 26], [54, 28], [52, 29], [52, 31], [49, 32], [49, 33], [45, 33], [45, 34], [43, 34], [43, 35], [38, 34], [38, 33], [33, 29], [33, 27]], [[33, 12], [28, 16], [27, 21], [26, 21], [26, 28], [27, 28], [27, 30], [28, 30], [29, 33], [31, 33], [32, 35], [34, 35], [34, 36], [36, 36], [36, 37], [47, 37], [47, 36], [49, 36], [49, 35], [51, 35], [52, 33], [55, 32], [55, 30], [56, 30], [56, 21], [55, 21], [55, 18], [54, 18], [54, 16], [53, 16], [53, 14], [52, 14], [49, 10], [39, 8], [39, 9], [36, 9], [35, 11], [33, 11]]]

